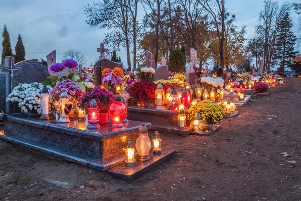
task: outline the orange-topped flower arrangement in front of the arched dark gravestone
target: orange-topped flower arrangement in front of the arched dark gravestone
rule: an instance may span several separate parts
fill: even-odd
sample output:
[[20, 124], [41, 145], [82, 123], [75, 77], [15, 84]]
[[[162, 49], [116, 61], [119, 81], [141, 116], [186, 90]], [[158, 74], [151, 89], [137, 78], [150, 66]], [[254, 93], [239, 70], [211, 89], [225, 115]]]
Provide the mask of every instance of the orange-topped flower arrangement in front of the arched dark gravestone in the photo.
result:
[[108, 90], [115, 92], [116, 86], [122, 84], [123, 70], [121, 68], [116, 67], [113, 70], [105, 68], [101, 73], [103, 76], [102, 84], [104, 84]]

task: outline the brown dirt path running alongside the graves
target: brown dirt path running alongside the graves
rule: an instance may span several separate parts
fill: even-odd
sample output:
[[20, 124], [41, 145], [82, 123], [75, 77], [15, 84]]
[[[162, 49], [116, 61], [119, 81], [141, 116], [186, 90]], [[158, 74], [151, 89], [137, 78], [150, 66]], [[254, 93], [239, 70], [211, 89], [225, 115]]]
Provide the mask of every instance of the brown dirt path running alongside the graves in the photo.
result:
[[284, 82], [213, 136], [162, 134], [175, 158], [132, 183], [0, 140], [0, 200], [301, 200], [301, 79]]

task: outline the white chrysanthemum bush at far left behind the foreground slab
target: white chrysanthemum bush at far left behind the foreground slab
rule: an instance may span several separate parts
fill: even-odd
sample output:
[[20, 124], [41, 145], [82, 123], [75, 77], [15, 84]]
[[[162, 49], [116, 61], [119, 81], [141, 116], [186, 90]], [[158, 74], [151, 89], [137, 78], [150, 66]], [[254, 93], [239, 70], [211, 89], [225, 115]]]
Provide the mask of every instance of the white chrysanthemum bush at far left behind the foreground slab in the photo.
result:
[[[21, 112], [38, 114], [40, 113], [40, 98], [43, 88], [42, 83], [19, 84], [6, 98], [6, 101], [18, 106]], [[51, 90], [51, 86], [47, 86]]]

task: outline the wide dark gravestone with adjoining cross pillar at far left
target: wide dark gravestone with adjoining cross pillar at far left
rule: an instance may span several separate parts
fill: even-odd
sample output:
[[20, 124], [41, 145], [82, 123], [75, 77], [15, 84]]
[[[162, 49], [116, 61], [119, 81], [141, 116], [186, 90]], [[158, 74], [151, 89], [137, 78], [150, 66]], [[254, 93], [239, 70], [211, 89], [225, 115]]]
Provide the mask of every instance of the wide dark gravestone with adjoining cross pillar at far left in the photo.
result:
[[11, 93], [12, 88], [19, 83], [32, 83], [50, 81], [47, 66], [43, 65], [38, 59], [25, 60], [14, 64], [14, 57], [6, 57], [4, 65], [0, 68], [0, 110], [10, 112], [9, 104], [5, 98]]

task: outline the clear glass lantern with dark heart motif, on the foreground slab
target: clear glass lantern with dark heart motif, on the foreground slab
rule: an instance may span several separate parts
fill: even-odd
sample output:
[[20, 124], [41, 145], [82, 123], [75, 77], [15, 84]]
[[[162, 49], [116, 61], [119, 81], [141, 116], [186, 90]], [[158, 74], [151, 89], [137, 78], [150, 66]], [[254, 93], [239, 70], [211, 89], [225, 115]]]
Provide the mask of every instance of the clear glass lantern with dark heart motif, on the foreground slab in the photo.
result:
[[55, 103], [55, 108], [59, 113], [58, 123], [69, 123], [69, 113], [73, 107], [73, 103], [69, 101], [68, 94], [66, 91], [63, 91], [60, 95], [60, 100]]

